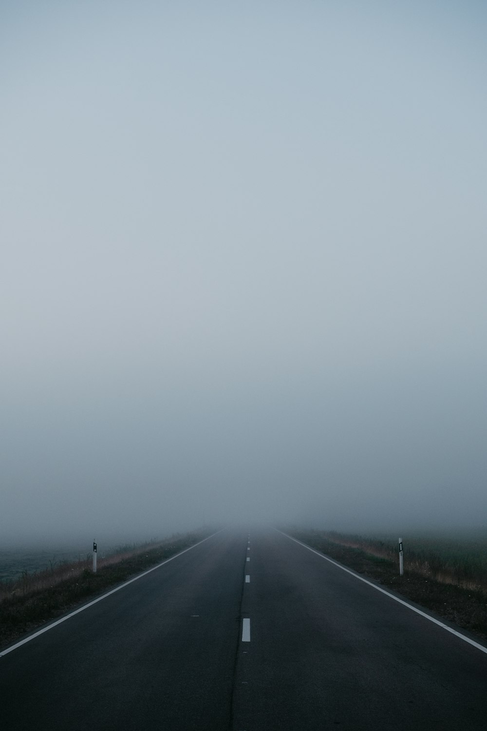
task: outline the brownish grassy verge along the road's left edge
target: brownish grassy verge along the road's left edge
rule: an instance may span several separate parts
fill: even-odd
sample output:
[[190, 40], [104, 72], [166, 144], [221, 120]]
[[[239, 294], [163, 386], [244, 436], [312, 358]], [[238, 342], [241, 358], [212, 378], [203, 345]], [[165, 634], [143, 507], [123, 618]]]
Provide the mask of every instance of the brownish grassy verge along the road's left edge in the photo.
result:
[[115, 553], [98, 565], [96, 574], [91, 571], [88, 561], [76, 561], [4, 583], [0, 595], [0, 647], [72, 610], [91, 596], [189, 548], [211, 532], [172, 536], [156, 545]]

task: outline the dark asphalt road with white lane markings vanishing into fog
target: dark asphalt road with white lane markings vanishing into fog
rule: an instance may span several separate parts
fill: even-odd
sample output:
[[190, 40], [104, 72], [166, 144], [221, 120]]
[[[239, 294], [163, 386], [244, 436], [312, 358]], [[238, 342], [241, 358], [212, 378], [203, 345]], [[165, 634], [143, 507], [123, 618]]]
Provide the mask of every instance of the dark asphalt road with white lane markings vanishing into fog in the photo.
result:
[[485, 731], [487, 654], [277, 531], [224, 530], [0, 656], [0, 703], [9, 731]]

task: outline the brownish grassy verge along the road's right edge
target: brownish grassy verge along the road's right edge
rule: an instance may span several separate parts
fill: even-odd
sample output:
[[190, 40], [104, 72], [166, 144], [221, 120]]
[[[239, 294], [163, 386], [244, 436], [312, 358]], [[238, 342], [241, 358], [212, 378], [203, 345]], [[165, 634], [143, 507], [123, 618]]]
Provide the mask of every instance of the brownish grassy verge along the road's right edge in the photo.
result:
[[397, 555], [389, 556], [382, 541], [364, 541], [355, 537], [355, 542], [361, 542], [361, 545], [353, 545], [353, 537], [342, 536], [340, 539], [337, 533], [304, 529], [287, 529], [285, 532], [340, 564], [487, 639], [487, 594], [483, 586], [468, 588], [449, 580], [444, 583], [425, 575], [421, 564], [415, 569], [414, 561], [410, 561], [409, 566], [404, 565], [404, 575], [399, 576]]

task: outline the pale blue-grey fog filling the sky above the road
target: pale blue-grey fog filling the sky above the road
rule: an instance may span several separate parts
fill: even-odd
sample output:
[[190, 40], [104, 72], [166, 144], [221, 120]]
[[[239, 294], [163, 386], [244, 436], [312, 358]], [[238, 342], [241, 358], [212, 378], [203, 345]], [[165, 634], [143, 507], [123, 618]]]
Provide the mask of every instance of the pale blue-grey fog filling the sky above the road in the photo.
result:
[[486, 523], [487, 9], [0, 6], [0, 542]]

